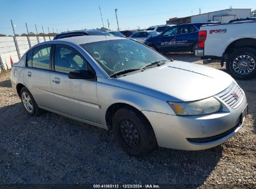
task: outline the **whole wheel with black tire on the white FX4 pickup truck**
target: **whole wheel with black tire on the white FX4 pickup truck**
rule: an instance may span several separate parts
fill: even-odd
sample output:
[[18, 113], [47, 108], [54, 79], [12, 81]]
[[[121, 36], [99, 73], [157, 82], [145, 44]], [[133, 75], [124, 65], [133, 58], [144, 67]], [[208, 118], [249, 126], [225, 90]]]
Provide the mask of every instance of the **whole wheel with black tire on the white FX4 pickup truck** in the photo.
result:
[[[242, 62], [243, 60], [245, 62]], [[227, 60], [226, 70], [238, 80], [253, 78], [256, 75], [256, 50], [254, 48], [238, 48]]]

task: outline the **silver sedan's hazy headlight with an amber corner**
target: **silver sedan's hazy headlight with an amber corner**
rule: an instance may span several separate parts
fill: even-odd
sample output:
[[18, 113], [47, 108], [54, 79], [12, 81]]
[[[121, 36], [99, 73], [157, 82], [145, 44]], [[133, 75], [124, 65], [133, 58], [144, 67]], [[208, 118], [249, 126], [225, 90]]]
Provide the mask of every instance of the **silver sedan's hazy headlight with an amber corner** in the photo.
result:
[[216, 113], [221, 108], [220, 102], [214, 97], [192, 102], [168, 103], [170, 104], [171, 108], [173, 108], [173, 111], [180, 116], [212, 114]]

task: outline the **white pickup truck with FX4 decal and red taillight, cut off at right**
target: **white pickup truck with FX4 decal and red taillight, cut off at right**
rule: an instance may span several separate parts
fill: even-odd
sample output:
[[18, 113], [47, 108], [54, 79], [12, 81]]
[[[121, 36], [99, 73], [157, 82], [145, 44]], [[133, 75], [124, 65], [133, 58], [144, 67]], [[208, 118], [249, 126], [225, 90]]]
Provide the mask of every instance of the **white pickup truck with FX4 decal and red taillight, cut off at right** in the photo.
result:
[[195, 54], [203, 60], [219, 59], [221, 67], [225, 62], [234, 78], [256, 76], [256, 21], [202, 25]]

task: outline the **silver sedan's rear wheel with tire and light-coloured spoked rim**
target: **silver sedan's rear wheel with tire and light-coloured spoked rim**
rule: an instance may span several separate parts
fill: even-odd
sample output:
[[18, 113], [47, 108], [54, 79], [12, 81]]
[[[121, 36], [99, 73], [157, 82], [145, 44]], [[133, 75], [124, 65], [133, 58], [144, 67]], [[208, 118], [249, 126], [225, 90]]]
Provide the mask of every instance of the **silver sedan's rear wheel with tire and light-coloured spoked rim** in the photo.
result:
[[31, 116], [39, 116], [43, 111], [37, 106], [35, 99], [32, 94], [27, 90], [26, 87], [21, 89], [21, 103], [24, 106], [26, 112]]

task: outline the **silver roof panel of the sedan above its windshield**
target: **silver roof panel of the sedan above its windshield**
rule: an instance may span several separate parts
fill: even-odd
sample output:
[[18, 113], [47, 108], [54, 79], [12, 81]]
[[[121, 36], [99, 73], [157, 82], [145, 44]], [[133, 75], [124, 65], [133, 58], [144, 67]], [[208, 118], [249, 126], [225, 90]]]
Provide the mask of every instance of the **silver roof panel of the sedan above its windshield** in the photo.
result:
[[123, 40], [126, 38], [123, 37], [112, 37], [112, 36], [105, 36], [105, 35], [83, 35], [83, 36], [77, 36], [77, 37], [68, 37], [68, 38], [63, 38], [63, 39], [56, 39], [55, 41], [64, 41], [64, 42], [71, 42], [76, 45], [81, 45], [81, 44], [88, 44], [92, 42], [99, 42], [99, 41], [104, 41], [104, 40]]

